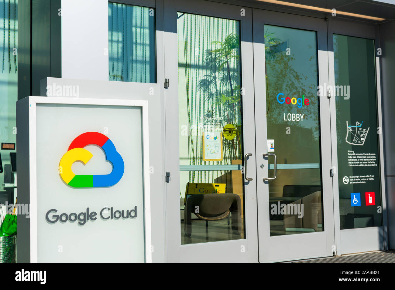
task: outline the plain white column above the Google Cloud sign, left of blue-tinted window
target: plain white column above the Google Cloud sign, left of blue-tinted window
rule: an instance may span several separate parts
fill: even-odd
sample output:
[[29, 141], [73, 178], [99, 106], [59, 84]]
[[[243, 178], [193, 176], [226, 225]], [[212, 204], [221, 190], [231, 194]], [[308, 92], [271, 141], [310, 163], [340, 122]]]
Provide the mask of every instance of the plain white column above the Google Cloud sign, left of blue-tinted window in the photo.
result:
[[62, 78], [108, 80], [108, 0], [62, 0]]

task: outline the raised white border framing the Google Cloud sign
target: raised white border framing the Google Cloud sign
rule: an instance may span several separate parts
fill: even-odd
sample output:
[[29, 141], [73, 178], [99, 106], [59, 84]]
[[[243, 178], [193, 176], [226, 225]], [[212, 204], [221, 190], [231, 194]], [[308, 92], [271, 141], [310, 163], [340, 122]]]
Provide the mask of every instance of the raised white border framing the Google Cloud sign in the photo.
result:
[[[38, 262], [38, 236], [37, 236], [37, 150], [36, 150], [36, 104], [63, 104], [63, 105], [103, 105], [141, 107], [143, 132], [143, 185], [144, 185], [144, 234], [145, 234], [145, 262], [150, 263], [151, 255], [151, 212], [150, 212], [150, 181], [149, 181], [149, 130], [148, 130], [148, 101], [114, 100], [114, 99], [83, 99], [68, 97], [35, 97], [28, 98], [28, 140], [29, 140], [29, 172], [30, 180], [30, 262]], [[19, 137], [19, 136], [18, 136]], [[20, 151], [19, 151], [20, 152]], [[20, 152], [27, 153], [27, 152]], [[20, 154], [20, 155], [22, 155]]]

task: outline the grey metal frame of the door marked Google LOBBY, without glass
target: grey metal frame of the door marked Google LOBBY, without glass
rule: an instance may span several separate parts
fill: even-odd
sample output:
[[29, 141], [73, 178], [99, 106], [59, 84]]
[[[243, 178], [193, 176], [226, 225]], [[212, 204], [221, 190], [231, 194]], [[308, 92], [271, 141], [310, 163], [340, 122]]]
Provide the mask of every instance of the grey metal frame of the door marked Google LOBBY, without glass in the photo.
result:
[[[328, 56], [327, 56], [327, 25], [325, 19], [294, 15], [282, 12], [253, 9], [254, 15], [254, 77], [256, 97], [256, 116], [261, 116], [261, 111], [266, 112], [266, 83], [265, 79], [265, 49], [264, 49], [264, 24], [285, 26], [303, 30], [316, 31], [317, 57], [318, 57], [318, 83], [329, 83]], [[258, 231], [260, 262], [279, 262], [305, 258], [332, 256], [335, 245], [335, 232], [333, 221], [333, 188], [330, 176], [332, 168], [330, 135], [329, 99], [320, 97], [320, 147], [321, 147], [321, 175], [322, 175], [322, 202], [324, 211], [324, 232], [293, 234], [283, 236], [270, 236], [269, 226], [269, 186], [263, 178], [268, 177], [267, 169], [257, 167], [258, 187]], [[267, 120], [265, 116], [261, 123], [256, 123], [256, 163], [268, 168], [267, 159], [262, 154], [267, 153]], [[257, 118], [258, 120], [258, 118]], [[326, 120], [326, 121], [325, 121]], [[263, 134], [261, 134], [263, 132]], [[262, 148], [262, 145], [263, 148]], [[325, 194], [324, 194], [325, 193]], [[273, 247], [282, 244], [282, 251], [273, 251]], [[322, 249], [315, 247], [322, 245]]]

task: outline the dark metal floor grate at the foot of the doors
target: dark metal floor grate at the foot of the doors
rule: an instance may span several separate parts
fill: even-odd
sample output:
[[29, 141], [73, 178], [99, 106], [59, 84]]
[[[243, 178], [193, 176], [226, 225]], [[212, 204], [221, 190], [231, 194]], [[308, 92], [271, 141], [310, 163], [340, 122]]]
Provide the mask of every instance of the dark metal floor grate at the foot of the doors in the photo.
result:
[[289, 263], [395, 263], [395, 251], [378, 251], [340, 257], [297, 260]]

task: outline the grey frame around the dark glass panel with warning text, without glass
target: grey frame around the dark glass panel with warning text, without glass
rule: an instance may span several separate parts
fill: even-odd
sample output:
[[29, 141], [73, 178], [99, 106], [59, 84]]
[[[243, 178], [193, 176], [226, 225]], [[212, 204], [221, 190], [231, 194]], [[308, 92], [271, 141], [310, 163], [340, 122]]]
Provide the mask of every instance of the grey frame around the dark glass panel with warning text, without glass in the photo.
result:
[[[329, 52], [329, 84], [335, 84], [335, 61], [333, 55], [333, 34], [355, 36], [365, 39], [373, 39], [375, 51], [380, 47], [378, 24], [363, 21], [352, 21], [348, 19], [338, 19], [331, 17], [328, 20], [328, 52]], [[380, 80], [380, 58], [376, 55], [376, 101], [377, 118], [379, 127], [383, 127], [382, 121], [382, 97]], [[336, 136], [336, 99], [331, 98], [331, 135]], [[333, 166], [338, 168], [337, 160], [337, 139], [332, 139]], [[382, 219], [383, 226], [372, 226], [369, 228], [355, 228], [340, 230], [340, 208], [339, 208], [339, 180], [337, 176], [333, 178], [334, 196], [334, 216], [335, 216], [335, 236], [337, 245], [337, 255], [348, 253], [359, 253], [366, 251], [377, 251], [388, 249], [388, 230], [387, 230], [387, 208], [386, 208], [386, 187], [384, 174], [384, 142], [383, 135], [379, 134], [379, 154], [380, 154], [380, 178], [382, 194]], [[383, 236], [383, 243], [377, 241], [377, 237]], [[352, 244], [351, 244], [352, 241]]]

